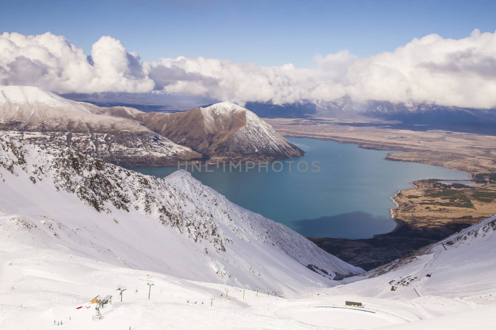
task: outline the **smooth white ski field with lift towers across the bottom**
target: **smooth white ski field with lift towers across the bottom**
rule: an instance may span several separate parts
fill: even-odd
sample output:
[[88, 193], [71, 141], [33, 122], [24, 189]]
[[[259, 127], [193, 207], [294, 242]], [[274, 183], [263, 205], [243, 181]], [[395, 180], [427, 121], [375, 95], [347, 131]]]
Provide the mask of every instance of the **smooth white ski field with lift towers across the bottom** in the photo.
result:
[[[10, 226], [10, 222], [10, 216], [0, 215], [2, 229]], [[479, 233], [484, 232], [483, 229]], [[284, 299], [276, 296], [270, 287], [269, 295], [263, 287], [257, 295], [255, 290], [243, 287], [195, 282], [112, 265], [83, 257], [80, 251], [60, 244], [26, 239], [19, 233], [17, 228], [0, 231], [0, 327], [6, 330], [46, 329], [54, 325], [54, 320], [75, 330], [129, 327], [493, 330], [496, 327], [495, 281], [477, 282], [477, 274], [484, 271], [478, 266], [488, 267], [485, 274], [494, 270], [493, 253], [483, 256], [484, 250], [474, 248], [475, 240], [464, 245], [473, 245], [470, 252], [461, 252], [473, 260], [466, 260], [466, 265], [453, 264], [463, 258], [458, 256], [457, 248], [452, 248], [454, 252], [444, 259], [451, 262], [446, 266], [452, 270], [438, 270], [431, 278], [418, 281], [428, 283], [437, 279], [436, 283], [417, 287], [422, 297], [407, 295], [409, 290], [414, 292], [413, 284], [400, 286], [396, 291], [390, 291], [385, 284], [392, 275], [404, 277], [419, 270], [419, 264], [413, 263], [411, 268], [398, 269], [396, 274], [332, 288], [308, 287], [301, 291], [303, 298]], [[28, 233], [34, 237], [33, 232]], [[487, 238], [488, 234], [479, 243]], [[487, 260], [483, 261], [483, 257]], [[472, 264], [477, 266], [474, 271], [470, 270]], [[147, 283], [154, 284], [150, 299]], [[126, 288], [123, 302], [116, 291], [118, 286]], [[437, 288], [436, 295], [420, 291], [427, 288]], [[228, 299], [225, 299], [226, 291]], [[89, 303], [90, 299], [107, 294], [114, 295], [112, 304], [100, 309], [101, 320], [92, 320], [95, 305]], [[346, 300], [362, 302], [363, 308], [346, 306]]]

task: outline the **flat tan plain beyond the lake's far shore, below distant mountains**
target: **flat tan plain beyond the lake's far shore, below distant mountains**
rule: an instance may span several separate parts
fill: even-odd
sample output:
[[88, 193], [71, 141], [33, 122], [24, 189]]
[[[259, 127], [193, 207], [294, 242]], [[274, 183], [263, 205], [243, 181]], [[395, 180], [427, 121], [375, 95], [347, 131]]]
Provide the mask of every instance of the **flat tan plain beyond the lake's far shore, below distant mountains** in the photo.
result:
[[[496, 136], [443, 130], [395, 129], [371, 119], [264, 118], [285, 137], [330, 140], [391, 151], [385, 159], [434, 165], [468, 173], [496, 172]], [[395, 139], [391, 139], [395, 138]]]

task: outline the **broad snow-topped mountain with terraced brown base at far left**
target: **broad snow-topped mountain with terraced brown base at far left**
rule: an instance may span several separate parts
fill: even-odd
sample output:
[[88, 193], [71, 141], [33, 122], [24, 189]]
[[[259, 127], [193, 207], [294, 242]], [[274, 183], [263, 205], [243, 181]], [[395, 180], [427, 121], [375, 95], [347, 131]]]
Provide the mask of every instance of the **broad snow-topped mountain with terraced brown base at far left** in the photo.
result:
[[125, 165], [177, 165], [201, 154], [139, 122], [98, 115], [83, 103], [31, 86], [0, 86], [0, 130], [37, 143], [70, 145]]

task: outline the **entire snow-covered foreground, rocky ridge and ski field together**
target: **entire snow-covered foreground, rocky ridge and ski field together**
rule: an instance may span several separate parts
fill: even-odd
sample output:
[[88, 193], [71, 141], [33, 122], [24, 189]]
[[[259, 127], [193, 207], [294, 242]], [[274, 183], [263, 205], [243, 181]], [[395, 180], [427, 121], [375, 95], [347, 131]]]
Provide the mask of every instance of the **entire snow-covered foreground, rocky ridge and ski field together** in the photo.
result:
[[495, 329], [495, 235], [496, 215], [336, 286], [321, 270], [359, 270], [186, 172], [0, 137], [2, 329]]

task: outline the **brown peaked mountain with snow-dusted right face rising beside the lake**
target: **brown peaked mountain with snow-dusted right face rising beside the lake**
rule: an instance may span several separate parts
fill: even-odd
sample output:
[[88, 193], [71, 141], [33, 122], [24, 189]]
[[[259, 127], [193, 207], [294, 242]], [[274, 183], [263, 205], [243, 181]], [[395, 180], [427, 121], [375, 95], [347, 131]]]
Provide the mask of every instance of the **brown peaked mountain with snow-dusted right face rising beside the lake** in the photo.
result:
[[208, 158], [272, 161], [304, 154], [303, 150], [286, 140], [253, 112], [230, 102], [171, 114], [144, 113], [119, 106], [93, 106], [92, 111], [140, 121], [153, 132], [186, 145]]

